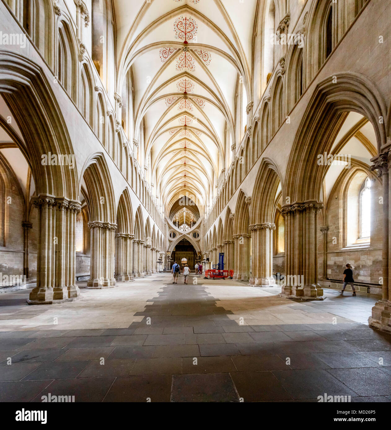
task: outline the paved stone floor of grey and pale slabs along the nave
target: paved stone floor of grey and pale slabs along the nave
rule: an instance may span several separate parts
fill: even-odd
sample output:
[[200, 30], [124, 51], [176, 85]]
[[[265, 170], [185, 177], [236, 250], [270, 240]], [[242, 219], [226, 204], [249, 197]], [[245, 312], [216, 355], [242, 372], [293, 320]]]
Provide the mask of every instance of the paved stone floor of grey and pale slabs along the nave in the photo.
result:
[[391, 336], [367, 326], [374, 297], [301, 303], [202, 276], [84, 285], [52, 306], [0, 295], [0, 401], [391, 401]]

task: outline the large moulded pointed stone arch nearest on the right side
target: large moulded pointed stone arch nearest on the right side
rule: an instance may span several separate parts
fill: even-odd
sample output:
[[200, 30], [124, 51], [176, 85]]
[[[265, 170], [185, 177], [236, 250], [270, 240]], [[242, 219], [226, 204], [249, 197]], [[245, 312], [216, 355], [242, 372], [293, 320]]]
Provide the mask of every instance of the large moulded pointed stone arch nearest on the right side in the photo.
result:
[[354, 72], [326, 78], [313, 92], [295, 135], [284, 187], [291, 203], [319, 198], [327, 166], [318, 166], [317, 155], [330, 151], [341, 115], [348, 111], [358, 112], [372, 123], [379, 152], [385, 145], [385, 125], [379, 123], [379, 117], [386, 117], [386, 107], [375, 85]]

